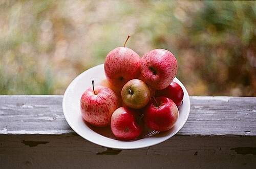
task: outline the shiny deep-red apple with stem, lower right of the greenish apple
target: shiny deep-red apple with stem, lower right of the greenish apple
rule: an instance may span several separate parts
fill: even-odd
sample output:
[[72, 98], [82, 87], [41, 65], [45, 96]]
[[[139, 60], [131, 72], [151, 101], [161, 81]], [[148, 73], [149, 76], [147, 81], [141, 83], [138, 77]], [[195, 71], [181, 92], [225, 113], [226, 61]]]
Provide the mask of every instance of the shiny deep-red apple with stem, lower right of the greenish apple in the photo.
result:
[[167, 131], [174, 127], [179, 117], [179, 110], [176, 104], [167, 97], [155, 98], [147, 104], [144, 110], [144, 121], [148, 128], [156, 131]]

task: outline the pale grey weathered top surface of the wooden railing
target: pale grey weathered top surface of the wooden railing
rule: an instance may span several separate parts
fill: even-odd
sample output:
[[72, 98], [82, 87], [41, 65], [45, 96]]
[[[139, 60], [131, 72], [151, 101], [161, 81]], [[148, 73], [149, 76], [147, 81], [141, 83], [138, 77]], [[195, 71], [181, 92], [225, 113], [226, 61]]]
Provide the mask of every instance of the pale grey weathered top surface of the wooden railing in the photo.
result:
[[[188, 120], [178, 135], [256, 135], [255, 97], [190, 97]], [[62, 96], [0, 95], [0, 134], [73, 133]]]

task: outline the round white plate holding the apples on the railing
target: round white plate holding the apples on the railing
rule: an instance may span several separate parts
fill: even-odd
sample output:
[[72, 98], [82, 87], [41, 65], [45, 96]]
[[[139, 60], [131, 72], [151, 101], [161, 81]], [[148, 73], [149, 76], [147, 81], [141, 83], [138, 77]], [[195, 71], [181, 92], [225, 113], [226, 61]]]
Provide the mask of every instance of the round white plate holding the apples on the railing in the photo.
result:
[[[151, 132], [135, 140], [118, 140], [111, 134], [110, 127], [96, 128], [84, 123], [80, 112], [80, 98], [83, 92], [105, 78], [104, 64], [95, 66], [78, 75], [68, 86], [62, 100], [62, 108], [65, 118], [70, 127], [80, 136], [100, 146], [115, 149], [138, 149], [156, 145], [176, 134], [187, 121], [190, 111], [190, 100], [186, 88], [175, 77], [174, 81], [179, 83], [184, 91], [183, 104], [179, 107], [179, 118], [175, 126], [165, 132]], [[146, 131], [149, 132], [149, 131]]]

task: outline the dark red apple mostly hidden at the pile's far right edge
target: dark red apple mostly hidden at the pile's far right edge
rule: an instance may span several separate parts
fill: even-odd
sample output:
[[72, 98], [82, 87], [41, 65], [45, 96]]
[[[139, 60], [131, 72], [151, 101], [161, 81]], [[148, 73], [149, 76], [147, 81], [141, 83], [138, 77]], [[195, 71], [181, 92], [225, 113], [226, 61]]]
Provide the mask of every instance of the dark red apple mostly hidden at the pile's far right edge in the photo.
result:
[[172, 99], [176, 106], [179, 107], [182, 103], [184, 92], [178, 83], [172, 81], [167, 88], [156, 91], [156, 97], [159, 96], [165, 96]]

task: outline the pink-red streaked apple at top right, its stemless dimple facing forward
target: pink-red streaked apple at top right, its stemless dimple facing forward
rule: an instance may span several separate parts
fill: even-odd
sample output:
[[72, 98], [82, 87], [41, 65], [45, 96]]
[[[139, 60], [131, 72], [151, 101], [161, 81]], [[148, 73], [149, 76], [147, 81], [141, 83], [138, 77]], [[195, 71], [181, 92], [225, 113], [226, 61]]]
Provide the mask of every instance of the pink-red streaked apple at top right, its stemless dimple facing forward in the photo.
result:
[[173, 53], [165, 49], [146, 52], [140, 62], [143, 81], [155, 90], [166, 88], [176, 76], [177, 69], [176, 58]]

